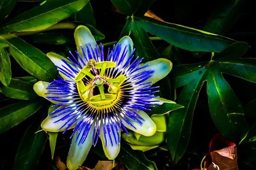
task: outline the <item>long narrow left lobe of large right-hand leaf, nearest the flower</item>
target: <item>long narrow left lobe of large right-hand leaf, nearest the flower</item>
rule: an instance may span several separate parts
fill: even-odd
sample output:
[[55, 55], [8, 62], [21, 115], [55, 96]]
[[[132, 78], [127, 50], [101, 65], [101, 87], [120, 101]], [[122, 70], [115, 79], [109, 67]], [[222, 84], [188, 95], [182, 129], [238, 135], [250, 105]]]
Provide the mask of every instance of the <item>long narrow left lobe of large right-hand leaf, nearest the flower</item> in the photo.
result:
[[[202, 76], [205, 69], [195, 67], [198, 70], [176, 78], [176, 85], [185, 85], [185, 87], [175, 101], [182, 104], [184, 108], [170, 113], [167, 127], [167, 144], [173, 163], [180, 160], [188, 147], [196, 101], [205, 81], [204, 76]], [[182, 69], [182, 66], [176, 67], [176, 71], [173, 69], [173, 73], [179, 73], [179, 69]]]

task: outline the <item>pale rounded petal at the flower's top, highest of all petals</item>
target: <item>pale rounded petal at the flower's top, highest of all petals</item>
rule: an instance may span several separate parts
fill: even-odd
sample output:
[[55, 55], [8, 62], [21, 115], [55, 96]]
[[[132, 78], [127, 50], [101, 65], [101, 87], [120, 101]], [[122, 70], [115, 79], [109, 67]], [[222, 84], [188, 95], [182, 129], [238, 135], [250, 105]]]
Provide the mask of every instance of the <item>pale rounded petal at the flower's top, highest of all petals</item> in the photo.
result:
[[[74, 38], [76, 41], [77, 52], [79, 53], [80, 57], [84, 57], [83, 50], [81, 49], [81, 46], [84, 49], [84, 53], [85, 53], [86, 57], [88, 57], [88, 50], [87, 50], [86, 46], [89, 47], [91, 55], [93, 55], [93, 53], [96, 54], [95, 48], [98, 48], [98, 51], [99, 51], [99, 47], [97, 46], [97, 43], [96, 43], [95, 39], [93, 38], [92, 32], [90, 31], [90, 29], [88, 29], [88, 27], [86, 27], [84, 25], [79, 25], [78, 27], [76, 27], [76, 30], [74, 32]], [[79, 61], [79, 62], [81, 62], [81, 61]]]

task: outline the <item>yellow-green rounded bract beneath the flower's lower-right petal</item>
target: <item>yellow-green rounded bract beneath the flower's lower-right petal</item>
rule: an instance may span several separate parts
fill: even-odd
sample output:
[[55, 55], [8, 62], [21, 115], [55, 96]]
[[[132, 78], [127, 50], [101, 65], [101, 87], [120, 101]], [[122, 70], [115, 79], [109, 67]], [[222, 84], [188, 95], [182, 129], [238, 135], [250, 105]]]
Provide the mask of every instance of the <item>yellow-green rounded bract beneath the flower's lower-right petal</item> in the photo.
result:
[[132, 145], [142, 145], [142, 146], [152, 146], [159, 145], [164, 141], [165, 132], [156, 132], [153, 136], [140, 136], [140, 139], [137, 140], [132, 132], [129, 132], [129, 136], [124, 133], [122, 138], [131, 143]]

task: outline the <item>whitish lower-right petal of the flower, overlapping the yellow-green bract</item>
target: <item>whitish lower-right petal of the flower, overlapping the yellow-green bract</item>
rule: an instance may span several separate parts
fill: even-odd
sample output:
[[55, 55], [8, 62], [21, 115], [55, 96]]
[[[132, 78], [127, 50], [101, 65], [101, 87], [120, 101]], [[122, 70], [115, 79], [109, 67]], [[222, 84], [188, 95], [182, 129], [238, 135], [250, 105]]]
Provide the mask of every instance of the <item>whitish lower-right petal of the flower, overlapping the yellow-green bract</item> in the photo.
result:
[[132, 120], [131, 118], [127, 118], [127, 120], [129, 122], [131, 122], [131, 124], [135, 127], [132, 127], [131, 125], [127, 124], [127, 122], [125, 122], [125, 120], [123, 120], [123, 124], [125, 125], [125, 127], [127, 127], [128, 129], [131, 129], [134, 132], [137, 132], [139, 134], [142, 134], [143, 136], [152, 136], [155, 134], [156, 132], [156, 124], [151, 120], [150, 117], [148, 117], [147, 113], [145, 113], [142, 110], [138, 110], [136, 111], [136, 113], [138, 113], [138, 115], [140, 115], [141, 118], [143, 118], [143, 120], [141, 120], [142, 125], [139, 124], [136, 120]]

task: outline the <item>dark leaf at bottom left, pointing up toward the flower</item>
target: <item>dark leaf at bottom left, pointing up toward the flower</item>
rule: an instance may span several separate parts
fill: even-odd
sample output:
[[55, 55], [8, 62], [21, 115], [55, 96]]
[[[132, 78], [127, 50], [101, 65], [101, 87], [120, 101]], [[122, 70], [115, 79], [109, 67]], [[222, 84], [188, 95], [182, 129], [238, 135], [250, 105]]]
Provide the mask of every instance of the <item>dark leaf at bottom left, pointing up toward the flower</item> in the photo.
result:
[[13, 170], [35, 169], [38, 164], [47, 140], [45, 133], [40, 131], [41, 122], [42, 118], [36, 117], [24, 133], [15, 155]]

